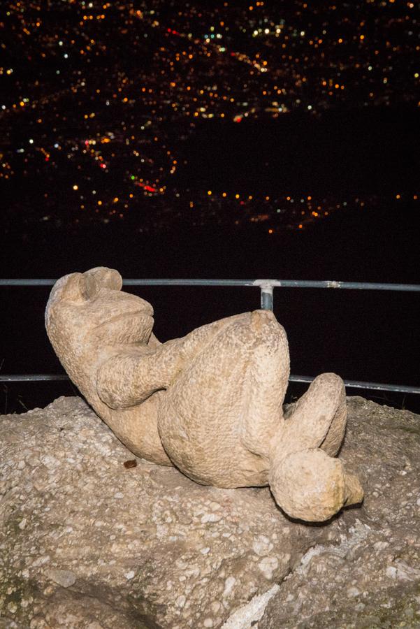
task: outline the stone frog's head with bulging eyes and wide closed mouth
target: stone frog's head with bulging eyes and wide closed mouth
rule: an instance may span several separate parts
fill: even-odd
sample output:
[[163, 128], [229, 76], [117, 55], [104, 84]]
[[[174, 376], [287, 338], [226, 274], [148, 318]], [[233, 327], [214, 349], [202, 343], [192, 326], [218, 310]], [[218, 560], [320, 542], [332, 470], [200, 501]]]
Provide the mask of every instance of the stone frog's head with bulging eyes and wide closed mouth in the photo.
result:
[[56, 282], [45, 310], [45, 326], [60, 359], [61, 340], [76, 353], [92, 344], [148, 342], [153, 308], [121, 287], [120, 273], [105, 267], [71, 273]]

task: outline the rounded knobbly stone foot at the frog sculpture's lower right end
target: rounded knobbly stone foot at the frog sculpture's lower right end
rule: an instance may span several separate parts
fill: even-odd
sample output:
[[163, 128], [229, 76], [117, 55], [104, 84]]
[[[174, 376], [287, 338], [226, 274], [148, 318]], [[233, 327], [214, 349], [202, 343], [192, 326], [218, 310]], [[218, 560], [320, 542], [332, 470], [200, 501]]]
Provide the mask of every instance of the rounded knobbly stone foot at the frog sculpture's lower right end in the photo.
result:
[[275, 501], [292, 518], [323, 522], [363, 500], [359, 480], [345, 473], [338, 458], [319, 448], [274, 460], [269, 475]]

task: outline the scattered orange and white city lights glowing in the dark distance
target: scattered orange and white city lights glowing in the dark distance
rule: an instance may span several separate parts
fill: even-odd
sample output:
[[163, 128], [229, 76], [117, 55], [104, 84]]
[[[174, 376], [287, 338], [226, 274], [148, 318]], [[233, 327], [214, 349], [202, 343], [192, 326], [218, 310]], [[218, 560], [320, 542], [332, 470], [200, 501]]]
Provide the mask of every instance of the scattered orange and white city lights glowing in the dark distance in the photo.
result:
[[[397, 190], [312, 191], [296, 178], [277, 187], [231, 182], [228, 191], [209, 180], [210, 194], [189, 147], [205, 125], [217, 138], [232, 122], [246, 133], [293, 116], [316, 124], [335, 110], [417, 108], [414, 9], [373, 0], [8, 3], [0, 68], [6, 230], [126, 221], [149, 232], [181, 219], [261, 224], [275, 234], [342, 208], [398, 211]], [[277, 151], [277, 165], [267, 164], [274, 180]], [[258, 170], [266, 156], [252, 159]], [[405, 192], [415, 205], [418, 190]]]

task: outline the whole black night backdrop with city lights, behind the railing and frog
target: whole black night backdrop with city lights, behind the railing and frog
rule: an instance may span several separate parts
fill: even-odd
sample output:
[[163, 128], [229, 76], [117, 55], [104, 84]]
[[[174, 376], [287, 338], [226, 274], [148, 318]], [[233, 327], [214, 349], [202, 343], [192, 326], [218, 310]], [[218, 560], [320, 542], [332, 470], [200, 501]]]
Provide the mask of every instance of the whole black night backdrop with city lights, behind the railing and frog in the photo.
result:
[[[419, 20], [418, 2], [6, 3], [3, 277], [418, 282]], [[147, 294], [163, 339], [258, 305], [182, 290]], [[419, 386], [416, 296], [315, 293], [277, 298], [295, 373]], [[1, 298], [3, 373], [59, 370], [45, 291]]]

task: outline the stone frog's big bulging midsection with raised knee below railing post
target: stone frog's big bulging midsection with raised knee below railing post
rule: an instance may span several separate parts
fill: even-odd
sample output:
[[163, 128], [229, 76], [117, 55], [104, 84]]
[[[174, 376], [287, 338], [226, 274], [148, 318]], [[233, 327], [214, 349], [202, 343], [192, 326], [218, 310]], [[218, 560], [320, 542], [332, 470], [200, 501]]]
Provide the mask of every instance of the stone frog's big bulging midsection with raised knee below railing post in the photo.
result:
[[184, 474], [223, 487], [268, 483], [268, 442], [287, 384], [284, 343], [273, 315], [242, 315], [204, 345], [166, 390], [159, 435]]

